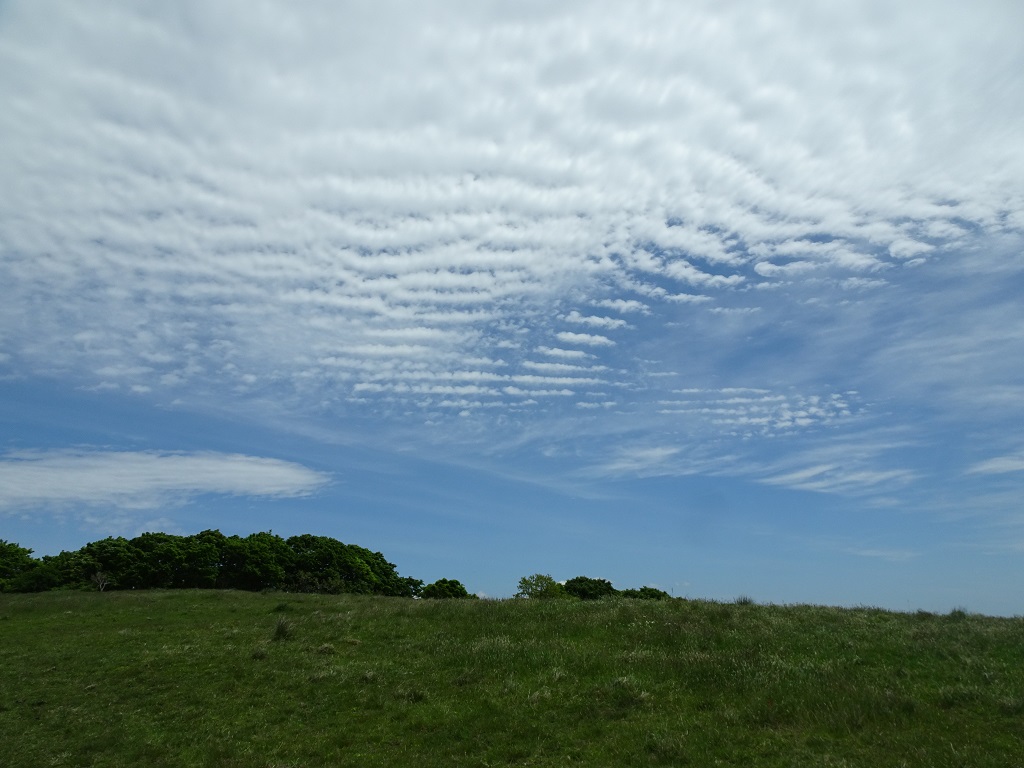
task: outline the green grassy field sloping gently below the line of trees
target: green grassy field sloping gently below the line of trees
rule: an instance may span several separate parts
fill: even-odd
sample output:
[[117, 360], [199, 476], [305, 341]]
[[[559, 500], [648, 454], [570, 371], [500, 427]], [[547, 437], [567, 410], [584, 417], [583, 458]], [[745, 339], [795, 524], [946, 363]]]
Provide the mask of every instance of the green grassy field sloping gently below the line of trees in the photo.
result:
[[1024, 620], [0, 595], [0, 754], [8, 768], [1024, 766]]

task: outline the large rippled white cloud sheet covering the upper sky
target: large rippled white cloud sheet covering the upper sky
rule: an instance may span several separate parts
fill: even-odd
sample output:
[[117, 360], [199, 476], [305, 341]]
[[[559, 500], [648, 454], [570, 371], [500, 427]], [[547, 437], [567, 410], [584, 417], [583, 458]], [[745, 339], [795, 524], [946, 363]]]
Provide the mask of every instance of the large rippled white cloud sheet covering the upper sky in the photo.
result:
[[[658, 311], [1005, 227], [1019, 12], [913, 8], [8, 3], [3, 326], [37, 329], [8, 344], [141, 386], [221, 349], [332, 378], [295, 350], [476, 354], [570, 290]], [[665, 279], [710, 295], [606, 295]]]

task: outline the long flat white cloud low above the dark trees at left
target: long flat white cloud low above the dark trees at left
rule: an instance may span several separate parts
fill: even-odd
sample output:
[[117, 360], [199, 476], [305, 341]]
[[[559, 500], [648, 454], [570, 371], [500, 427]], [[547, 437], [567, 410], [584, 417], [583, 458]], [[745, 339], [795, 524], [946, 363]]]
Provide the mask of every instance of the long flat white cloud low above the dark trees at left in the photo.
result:
[[150, 509], [202, 494], [300, 497], [328, 482], [298, 464], [239, 454], [18, 452], [0, 458], [0, 510]]

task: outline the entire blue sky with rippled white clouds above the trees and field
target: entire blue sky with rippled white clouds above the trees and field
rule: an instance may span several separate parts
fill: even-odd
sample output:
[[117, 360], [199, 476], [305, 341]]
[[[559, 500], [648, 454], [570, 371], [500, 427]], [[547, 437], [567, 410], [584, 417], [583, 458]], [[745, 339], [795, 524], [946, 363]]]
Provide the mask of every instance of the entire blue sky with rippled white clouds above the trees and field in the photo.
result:
[[1024, 5], [0, 2], [0, 539], [1024, 614]]

